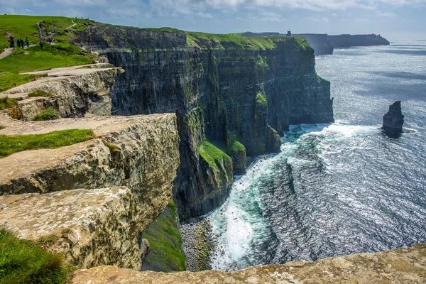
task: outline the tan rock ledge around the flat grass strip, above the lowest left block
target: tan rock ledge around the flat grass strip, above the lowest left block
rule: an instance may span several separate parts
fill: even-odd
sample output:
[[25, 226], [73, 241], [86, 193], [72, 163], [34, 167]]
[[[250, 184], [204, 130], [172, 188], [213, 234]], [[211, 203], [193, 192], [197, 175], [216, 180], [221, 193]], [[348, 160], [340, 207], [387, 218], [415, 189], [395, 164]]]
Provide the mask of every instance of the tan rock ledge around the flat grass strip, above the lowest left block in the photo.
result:
[[[99, 138], [0, 159], [0, 193], [55, 192], [126, 186], [138, 197], [138, 230], [167, 206], [179, 166], [175, 114], [97, 116], [55, 121], [1, 120], [0, 133], [93, 129]], [[4, 121], [4, 122], [2, 122]]]

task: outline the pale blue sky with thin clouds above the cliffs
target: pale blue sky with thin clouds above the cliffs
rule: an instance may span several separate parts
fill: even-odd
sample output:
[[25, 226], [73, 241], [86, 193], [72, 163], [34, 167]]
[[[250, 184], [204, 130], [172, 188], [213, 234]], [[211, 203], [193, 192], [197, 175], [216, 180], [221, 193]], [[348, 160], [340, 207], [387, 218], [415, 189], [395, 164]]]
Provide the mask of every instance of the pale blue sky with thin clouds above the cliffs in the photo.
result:
[[208, 33], [377, 33], [426, 40], [426, 0], [0, 0], [0, 14]]

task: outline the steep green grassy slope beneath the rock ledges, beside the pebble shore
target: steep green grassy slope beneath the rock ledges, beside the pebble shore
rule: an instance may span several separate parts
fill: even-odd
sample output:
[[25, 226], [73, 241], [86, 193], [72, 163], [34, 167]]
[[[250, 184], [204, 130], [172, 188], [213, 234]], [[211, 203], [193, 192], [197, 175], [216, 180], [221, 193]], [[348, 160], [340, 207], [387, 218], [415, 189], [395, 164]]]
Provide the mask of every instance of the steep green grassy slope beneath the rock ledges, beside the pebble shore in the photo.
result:
[[171, 200], [165, 211], [142, 233], [150, 244], [150, 252], [143, 261], [143, 270], [158, 272], [185, 271], [185, 254], [182, 251], [182, 235], [178, 229], [176, 205]]

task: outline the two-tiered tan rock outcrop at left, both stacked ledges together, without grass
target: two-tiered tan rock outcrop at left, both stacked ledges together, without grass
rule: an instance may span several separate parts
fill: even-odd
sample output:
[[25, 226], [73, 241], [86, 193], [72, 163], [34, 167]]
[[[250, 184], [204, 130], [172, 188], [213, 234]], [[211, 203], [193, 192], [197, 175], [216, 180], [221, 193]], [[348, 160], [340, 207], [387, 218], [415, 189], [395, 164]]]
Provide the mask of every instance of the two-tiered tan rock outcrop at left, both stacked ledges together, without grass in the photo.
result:
[[82, 268], [140, 270], [148, 247], [141, 233], [170, 202], [180, 163], [175, 114], [31, 122], [1, 115], [0, 124], [4, 135], [92, 129], [97, 136], [1, 158], [0, 226], [25, 239], [54, 236], [50, 248]]

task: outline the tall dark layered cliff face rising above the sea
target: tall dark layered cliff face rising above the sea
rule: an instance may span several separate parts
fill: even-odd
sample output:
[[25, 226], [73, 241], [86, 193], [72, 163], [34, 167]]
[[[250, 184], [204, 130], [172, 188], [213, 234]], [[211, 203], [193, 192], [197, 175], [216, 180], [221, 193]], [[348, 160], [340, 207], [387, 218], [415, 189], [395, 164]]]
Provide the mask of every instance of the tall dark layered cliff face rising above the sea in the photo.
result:
[[203, 141], [229, 146], [235, 138], [257, 155], [279, 148], [269, 127], [282, 134], [289, 124], [333, 121], [329, 82], [317, 77], [312, 48], [295, 38], [270, 41], [248, 47], [204, 34], [109, 26], [78, 34], [77, 44], [126, 70], [111, 90], [112, 114], [178, 114], [173, 193], [182, 219], [209, 212], [229, 194], [232, 165], [222, 155], [209, 163]]

